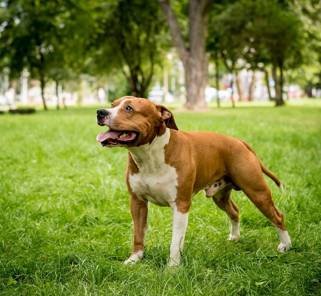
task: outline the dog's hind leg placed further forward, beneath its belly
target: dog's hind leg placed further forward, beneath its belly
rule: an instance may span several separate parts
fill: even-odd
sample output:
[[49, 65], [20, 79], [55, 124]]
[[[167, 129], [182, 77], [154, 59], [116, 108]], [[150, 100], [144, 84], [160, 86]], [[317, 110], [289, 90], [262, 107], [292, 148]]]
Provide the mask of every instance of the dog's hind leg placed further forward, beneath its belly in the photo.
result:
[[239, 237], [238, 207], [231, 199], [231, 188], [223, 188], [212, 197], [215, 204], [227, 214], [231, 222], [230, 235], [228, 240], [236, 241]]

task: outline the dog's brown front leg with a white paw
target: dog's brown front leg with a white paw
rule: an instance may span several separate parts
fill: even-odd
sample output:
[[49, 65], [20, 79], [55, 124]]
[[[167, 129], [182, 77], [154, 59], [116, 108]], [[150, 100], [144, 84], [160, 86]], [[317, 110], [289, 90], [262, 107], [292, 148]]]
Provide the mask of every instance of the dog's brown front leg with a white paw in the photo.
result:
[[136, 195], [131, 195], [130, 213], [134, 222], [134, 245], [131, 256], [124, 262], [125, 264], [135, 263], [144, 256], [148, 213], [147, 200], [140, 200]]

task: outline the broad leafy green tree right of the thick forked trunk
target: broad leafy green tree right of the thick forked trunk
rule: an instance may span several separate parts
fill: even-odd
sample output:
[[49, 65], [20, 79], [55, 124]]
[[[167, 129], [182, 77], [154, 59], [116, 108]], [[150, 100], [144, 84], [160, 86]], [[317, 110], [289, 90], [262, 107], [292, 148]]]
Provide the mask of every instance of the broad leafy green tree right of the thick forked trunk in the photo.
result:
[[303, 62], [304, 35], [295, 14], [274, 0], [241, 0], [230, 3], [211, 22], [210, 35], [216, 36], [216, 50], [227, 68], [237, 76], [238, 61], [253, 71], [270, 65], [276, 105], [283, 105], [284, 71]]

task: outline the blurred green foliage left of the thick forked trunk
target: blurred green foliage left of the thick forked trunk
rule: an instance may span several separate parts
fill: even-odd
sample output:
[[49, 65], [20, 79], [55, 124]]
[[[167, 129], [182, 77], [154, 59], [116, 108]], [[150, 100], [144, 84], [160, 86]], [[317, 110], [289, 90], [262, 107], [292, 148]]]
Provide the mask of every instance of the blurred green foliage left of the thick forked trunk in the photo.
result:
[[130, 92], [147, 95], [169, 36], [156, 1], [3, 1], [0, 57], [18, 77], [24, 67], [43, 83], [79, 74], [123, 72]]

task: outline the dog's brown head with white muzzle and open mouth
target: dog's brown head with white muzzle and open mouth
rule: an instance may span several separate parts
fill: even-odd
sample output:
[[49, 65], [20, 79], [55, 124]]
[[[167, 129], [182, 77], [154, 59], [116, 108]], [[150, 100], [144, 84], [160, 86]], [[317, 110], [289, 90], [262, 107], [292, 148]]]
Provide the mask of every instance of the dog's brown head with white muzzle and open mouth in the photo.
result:
[[99, 125], [107, 125], [109, 128], [96, 138], [108, 147], [140, 146], [162, 136], [166, 128], [178, 130], [168, 108], [132, 96], [114, 101], [110, 109], [98, 109], [96, 120]]

